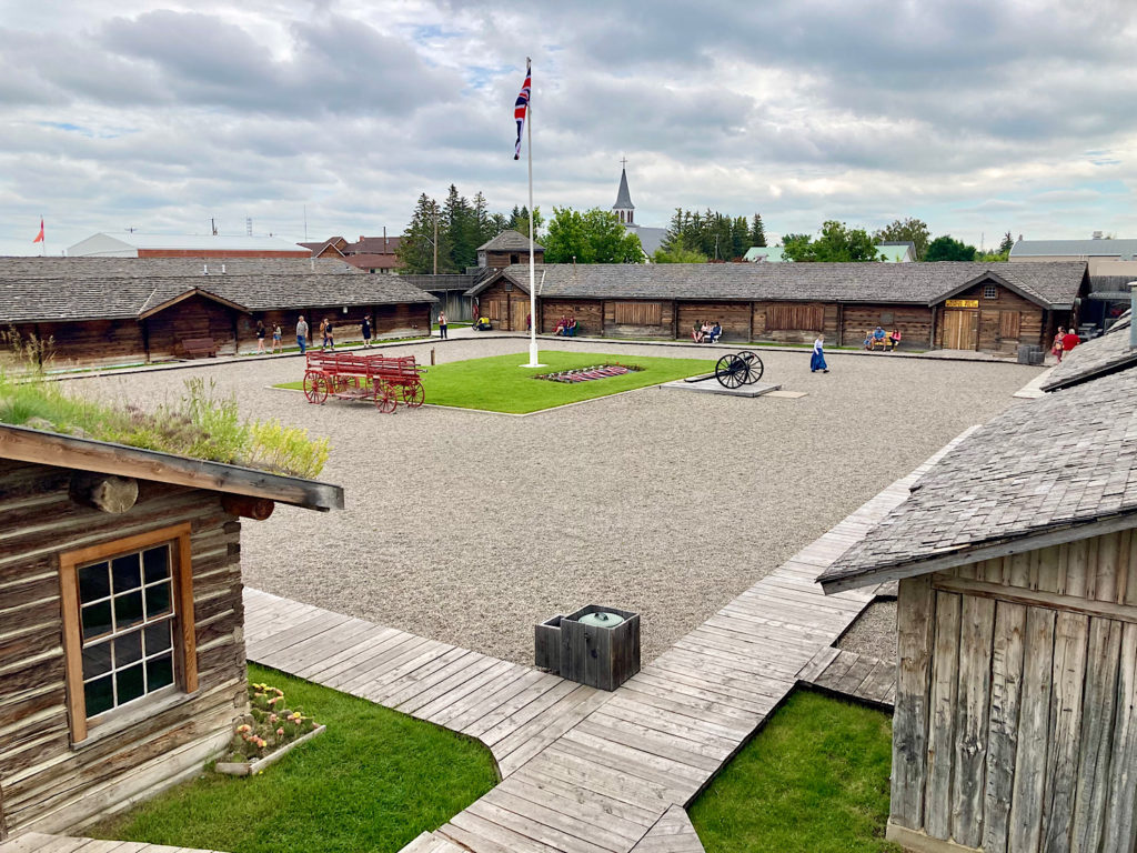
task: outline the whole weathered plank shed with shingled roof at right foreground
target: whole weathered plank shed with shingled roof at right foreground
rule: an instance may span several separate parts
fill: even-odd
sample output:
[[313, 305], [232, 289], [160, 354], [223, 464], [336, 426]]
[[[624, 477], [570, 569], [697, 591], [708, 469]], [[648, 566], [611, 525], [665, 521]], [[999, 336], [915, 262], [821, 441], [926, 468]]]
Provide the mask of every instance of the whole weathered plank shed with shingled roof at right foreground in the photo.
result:
[[899, 579], [887, 835], [910, 850], [1137, 844], [1137, 368], [1114, 366], [980, 428], [820, 578]]

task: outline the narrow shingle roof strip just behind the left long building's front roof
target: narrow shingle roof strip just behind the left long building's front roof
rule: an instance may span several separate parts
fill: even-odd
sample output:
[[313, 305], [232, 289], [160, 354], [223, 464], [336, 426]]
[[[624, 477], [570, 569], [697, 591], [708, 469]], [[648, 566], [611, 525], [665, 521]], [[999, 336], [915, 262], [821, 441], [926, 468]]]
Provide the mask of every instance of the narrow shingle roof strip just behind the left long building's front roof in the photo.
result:
[[[222, 267], [225, 272], [222, 273]], [[28, 256], [0, 257], [0, 281], [8, 279], [94, 279], [275, 275], [360, 275], [342, 258], [65, 258]]]

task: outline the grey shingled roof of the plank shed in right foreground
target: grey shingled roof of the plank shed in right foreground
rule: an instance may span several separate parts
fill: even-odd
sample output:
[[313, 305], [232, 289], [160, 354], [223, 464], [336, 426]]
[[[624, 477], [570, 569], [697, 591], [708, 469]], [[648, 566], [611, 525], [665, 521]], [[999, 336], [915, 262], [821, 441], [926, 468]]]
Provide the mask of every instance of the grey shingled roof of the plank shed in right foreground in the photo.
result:
[[971, 562], [981, 549], [1022, 552], [1030, 546], [1018, 540], [1044, 532], [1070, 541], [1095, 522], [1137, 527], [1135, 399], [1129, 370], [1007, 409], [819, 580], [835, 591]]

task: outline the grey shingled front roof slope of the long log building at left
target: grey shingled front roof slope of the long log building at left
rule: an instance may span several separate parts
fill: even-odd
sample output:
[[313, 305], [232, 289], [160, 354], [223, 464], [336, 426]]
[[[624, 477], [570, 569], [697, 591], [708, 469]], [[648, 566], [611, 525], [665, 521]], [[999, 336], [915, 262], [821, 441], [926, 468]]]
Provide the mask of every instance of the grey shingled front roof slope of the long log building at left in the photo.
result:
[[0, 323], [133, 320], [194, 292], [247, 312], [437, 301], [395, 275], [19, 279], [0, 280]]

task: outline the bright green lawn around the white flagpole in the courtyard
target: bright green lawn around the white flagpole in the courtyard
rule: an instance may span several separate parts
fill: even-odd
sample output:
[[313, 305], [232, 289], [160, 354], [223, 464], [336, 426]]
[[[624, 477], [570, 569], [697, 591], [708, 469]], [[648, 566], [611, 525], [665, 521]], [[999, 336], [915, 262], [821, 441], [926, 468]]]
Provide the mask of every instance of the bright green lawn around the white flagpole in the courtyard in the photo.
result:
[[[709, 373], [714, 371], [715, 365], [713, 361], [702, 358], [658, 358], [558, 350], [540, 353], [540, 363], [547, 365], [546, 367], [531, 370], [518, 366], [528, 361], [528, 354], [515, 353], [428, 367], [423, 376], [426, 403], [524, 414]], [[626, 364], [644, 370], [572, 384], [533, 379], [541, 373], [596, 364]], [[277, 386], [277, 388], [301, 387], [301, 382]]]

